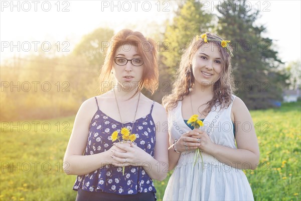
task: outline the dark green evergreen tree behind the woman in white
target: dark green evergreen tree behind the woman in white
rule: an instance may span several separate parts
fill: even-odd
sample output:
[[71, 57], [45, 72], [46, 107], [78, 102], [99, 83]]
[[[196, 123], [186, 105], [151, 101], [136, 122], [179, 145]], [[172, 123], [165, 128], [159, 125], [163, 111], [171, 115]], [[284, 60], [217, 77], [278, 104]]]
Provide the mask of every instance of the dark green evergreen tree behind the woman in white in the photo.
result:
[[281, 100], [286, 74], [278, 70], [281, 60], [273, 41], [262, 37], [264, 26], [255, 26], [259, 11], [245, 9], [245, 0], [226, 1], [217, 7], [217, 32], [231, 41], [232, 67], [237, 94], [249, 109], [265, 109]]

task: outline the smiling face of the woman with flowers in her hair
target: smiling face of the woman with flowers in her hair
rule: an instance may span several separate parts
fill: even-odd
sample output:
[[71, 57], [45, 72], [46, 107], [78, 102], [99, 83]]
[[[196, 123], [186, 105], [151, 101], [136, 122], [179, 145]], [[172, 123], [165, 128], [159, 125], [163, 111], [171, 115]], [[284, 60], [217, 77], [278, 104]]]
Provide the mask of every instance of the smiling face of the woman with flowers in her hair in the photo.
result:
[[202, 86], [213, 85], [222, 71], [222, 59], [219, 48], [215, 43], [201, 46], [192, 59], [192, 72], [195, 84]]

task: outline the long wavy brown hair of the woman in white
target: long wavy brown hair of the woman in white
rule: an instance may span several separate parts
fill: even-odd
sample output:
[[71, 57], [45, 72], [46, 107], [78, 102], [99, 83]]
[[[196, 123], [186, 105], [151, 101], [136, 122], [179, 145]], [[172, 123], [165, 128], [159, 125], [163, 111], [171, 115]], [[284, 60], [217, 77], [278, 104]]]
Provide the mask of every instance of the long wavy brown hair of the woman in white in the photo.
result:
[[[219, 80], [213, 85], [214, 95], [207, 103], [208, 105], [203, 111], [204, 115], [207, 115], [213, 106], [221, 105], [221, 108], [227, 108], [231, 103], [231, 95], [234, 90], [233, 77], [231, 74], [232, 48], [230, 45], [228, 45], [227, 48], [223, 48], [220, 42], [223, 39], [218, 35], [209, 32], [207, 32], [206, 35], [208, 37], [208, 43], [215, 43], [221, 53], [222, 72]], [[192, 59], [197, 50], [204, 44], [204, 39], [196, 36], [182, 55], [180, 67], [177, 70], [176, 79], [173, 83], [172, 93], [164, 96], [162, 99], [162, 105], [165, 106], [166, 110], [175, 108], [178, 105], [178, 100], [183, 100], [184, 96], [190, 93], [189, 88], [193, 87], [195, 80], [192, 73]]]

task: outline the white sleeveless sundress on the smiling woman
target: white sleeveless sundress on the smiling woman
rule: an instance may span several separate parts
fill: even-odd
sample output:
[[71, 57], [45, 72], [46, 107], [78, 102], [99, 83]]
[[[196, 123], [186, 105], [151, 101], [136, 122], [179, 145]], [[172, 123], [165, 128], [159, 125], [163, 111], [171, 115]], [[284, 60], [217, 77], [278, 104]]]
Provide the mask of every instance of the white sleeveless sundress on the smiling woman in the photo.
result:
[[[213, 108], [201, 129], [207, 132], [213, 143], [236, 149], [230, 116], [234, 98], [232, 95], [232, 103], [226, 109]], [[168, 113], [169, 131], [174, 139], [191, 131], [183, 120], [181, 108], [182, 102], [178, 101], [177, 107]], [[250, 184], [241, 169], [222, 163], [212, 155], [201, 154], [203, 169], [201, 158], [193, 167], [195, 150], [181, 153], [163, 200], [254, 200]]]

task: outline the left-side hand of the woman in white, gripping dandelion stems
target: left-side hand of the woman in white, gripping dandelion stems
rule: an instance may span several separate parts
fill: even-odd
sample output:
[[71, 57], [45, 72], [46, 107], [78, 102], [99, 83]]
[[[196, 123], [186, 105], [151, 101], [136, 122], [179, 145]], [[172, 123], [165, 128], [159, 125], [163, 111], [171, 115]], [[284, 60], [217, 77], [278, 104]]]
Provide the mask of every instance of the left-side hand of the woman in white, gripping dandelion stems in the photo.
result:
[[184, 152], [188, 150], [197, 149], [200, 146], [200, 138], [201, 134], [195, 131], [189, 131], [183, 134], [180, 139], [175, 144], [175, 148], [179, 152]]

